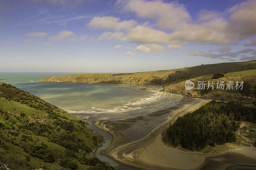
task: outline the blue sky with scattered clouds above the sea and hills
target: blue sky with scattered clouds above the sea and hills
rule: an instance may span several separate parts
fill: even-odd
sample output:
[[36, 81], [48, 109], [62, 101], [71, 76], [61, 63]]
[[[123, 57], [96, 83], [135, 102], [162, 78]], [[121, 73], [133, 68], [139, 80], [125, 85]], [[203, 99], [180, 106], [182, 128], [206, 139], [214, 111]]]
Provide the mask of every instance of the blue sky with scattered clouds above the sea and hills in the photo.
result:
[[256, 60], [256, 0], [0, 0], [0, 72]]

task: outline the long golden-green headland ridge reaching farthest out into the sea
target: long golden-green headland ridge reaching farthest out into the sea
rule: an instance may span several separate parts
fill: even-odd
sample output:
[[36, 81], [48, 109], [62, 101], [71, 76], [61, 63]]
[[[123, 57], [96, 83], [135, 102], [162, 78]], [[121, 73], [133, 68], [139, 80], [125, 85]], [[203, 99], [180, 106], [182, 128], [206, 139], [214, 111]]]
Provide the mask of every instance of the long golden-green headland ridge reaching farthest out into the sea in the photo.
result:
[[95, 83], [124, 83], [164, 85], [177, 83], [187, 79], [217, 73], [231, 73], [256, 69], [256, 60], [245, 62], [230, 62], [207, 64], [173, 70], [148, 71], [124, 74], [72, 74], [63, 77], [55, 76], [39, 81], [51, 82], [95, 82]]

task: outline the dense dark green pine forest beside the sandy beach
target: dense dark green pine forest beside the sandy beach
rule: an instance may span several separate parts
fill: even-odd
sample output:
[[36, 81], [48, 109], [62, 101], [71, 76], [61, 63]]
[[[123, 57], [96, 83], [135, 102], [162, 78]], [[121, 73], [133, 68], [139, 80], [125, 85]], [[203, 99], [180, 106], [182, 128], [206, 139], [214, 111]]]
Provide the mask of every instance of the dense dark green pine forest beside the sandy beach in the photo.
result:
[[187, 113], [166, 128], [163, 142], [189, 149], [201, 150], [206, 145], [236, 141], [239, 121], [256, 123], [256, 108], [234, 102], [211, 101], [192, 113]]

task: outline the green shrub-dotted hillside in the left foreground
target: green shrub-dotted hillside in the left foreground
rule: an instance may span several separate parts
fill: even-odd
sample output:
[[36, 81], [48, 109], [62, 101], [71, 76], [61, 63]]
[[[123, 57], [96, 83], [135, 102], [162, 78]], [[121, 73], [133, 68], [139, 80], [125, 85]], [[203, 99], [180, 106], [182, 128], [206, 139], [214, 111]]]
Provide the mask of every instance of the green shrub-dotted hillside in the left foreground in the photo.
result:
[[0, 83], [0, 162], [10, 169], [112, 169], [90, 157], [102, 139], [87, 123]]

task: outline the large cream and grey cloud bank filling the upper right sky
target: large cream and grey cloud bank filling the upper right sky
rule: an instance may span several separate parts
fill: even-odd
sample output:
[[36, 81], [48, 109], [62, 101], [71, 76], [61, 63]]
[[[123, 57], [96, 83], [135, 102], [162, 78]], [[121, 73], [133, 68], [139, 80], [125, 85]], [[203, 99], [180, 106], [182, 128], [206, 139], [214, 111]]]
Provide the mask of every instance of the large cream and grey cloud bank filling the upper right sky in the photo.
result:
[[[118, 0], [116, 6], [132, 12], [148, 24], [134, 20], [121, 21], [115, 17], [94, 17], [89, 22], [93, 29], [106, 29], [100, 39], [117, 39], [146, 44], [216, 44], [231, 45], [238, 40], [256, 36], [256, 1], [239, 3], [223, 12], [200, 11], [193, 20], [183, 4], [162, 0]], [[158, 28], [149, 25], [155, 21]], [[114, 33], [109, 33], [110, 30]], [[165, 31], [163, 31], [165, 30]], [[168, 32], [168, 33], [167, 33]], [[119, 36], [112, 36], [118, 34]], [[120, 36], [121, 35], [121, 36]], [[246, 41], [245, 45], [253, 45]]]

